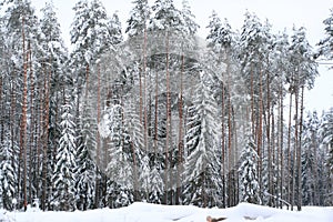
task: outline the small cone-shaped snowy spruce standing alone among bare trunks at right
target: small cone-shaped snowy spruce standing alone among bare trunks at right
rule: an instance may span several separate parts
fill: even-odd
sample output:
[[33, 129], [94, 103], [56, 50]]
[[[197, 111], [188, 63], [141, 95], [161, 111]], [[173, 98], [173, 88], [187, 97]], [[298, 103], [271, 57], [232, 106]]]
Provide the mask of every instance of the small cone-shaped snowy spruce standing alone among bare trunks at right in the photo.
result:
[[245, 148], [241, 153], [241, 165], [239, 168], [241, 201], [261, 204], [259, 176], [256, 170], [259, 157], [253, 139], [250, 135], [248, 137], [249, 138], [245, 142]]

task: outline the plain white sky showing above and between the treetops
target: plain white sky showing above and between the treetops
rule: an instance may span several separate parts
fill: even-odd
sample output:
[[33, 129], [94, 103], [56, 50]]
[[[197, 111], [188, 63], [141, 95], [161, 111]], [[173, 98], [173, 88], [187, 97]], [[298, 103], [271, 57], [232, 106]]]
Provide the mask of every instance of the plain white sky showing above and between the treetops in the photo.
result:
[[[47, 0], [31, 0], [32, 4], [39, 9]], [[132, 0], [101, 0], [107, 8], [109, 16], [119, 11], [123, 27], [132, 9]], [[176, 6], [181, 6], [182, 0], [174, 0]], [[73, 19], [73, 6], [78, 0], [53, 0], [58, 11], [58, 19], [62, 28], [63, 39], [69, 47], [69, 30]], [[150, 0], [153, 2], [153, 0]], [[244, 13], [248, 9], [255, 12], [264, 21], [269, 19], [273, 24], [273, 31], [292, 30], [304, 26], [307, 30], [307, 39], [315, 46], [324, 37], [323, 20], [330, 16], [333, 8], [332, 0], [189, 0], [192, 12], [200, 24], [199, 36], [205, 38], [209, 17], [215, 10], [221, 19], [228, 18], [233, 29], [241, 29]], [[320, 77], [315, 81], [315, 87], [306, 92], [305, 109], [327, 110], [333, 107], [333, 70], [320, 65]]]

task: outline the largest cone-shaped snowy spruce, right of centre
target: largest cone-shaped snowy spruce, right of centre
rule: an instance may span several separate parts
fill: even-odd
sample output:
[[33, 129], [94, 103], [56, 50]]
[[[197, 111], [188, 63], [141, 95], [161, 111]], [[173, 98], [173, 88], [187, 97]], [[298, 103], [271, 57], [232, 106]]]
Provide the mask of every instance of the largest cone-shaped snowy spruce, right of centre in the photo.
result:
[[[199, 206], [212, 206], [220, 202], [214, 190], [220, 189], [220, 173], [218, 172], [218, 123], [216, 102], [210, 89], [211, 75], [201, 71], [196, 88], [196, 98], [191, 108], [191, 118], [185, 135], [185, 196], [184, 203]], [[190, 113], [189, 113], [190, 114]], [[209, 198], [211, 199], [209, 201]]]

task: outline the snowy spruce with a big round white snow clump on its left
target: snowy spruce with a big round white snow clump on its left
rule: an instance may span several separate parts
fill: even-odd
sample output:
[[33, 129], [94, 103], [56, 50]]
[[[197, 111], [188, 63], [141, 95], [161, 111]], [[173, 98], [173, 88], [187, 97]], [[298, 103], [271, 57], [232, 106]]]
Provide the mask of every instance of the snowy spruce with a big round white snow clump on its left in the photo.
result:
[[[101, 135], [110, 140], [107, 199], [109, 204], [114, 202], [115, 208], [125, 206], [133, 202], [135, 172], [131, 162], [131, 142], [124, 124], [123, 108], [120, 104], [111, 104], [103, 119], [104, 121], [99, 127]], [[113, 190], [114, 188], [117, 190]], [[114, 192], [118, 194], [114, 195]]]

